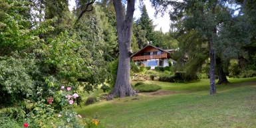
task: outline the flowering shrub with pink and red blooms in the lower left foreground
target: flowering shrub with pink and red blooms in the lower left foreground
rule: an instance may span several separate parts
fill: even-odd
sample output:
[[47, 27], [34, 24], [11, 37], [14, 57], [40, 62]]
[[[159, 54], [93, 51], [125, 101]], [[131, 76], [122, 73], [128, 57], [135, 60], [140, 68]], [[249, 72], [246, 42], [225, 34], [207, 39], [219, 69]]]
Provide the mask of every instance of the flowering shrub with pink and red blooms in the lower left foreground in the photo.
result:
[[[41, 88], [38, 88], [37, 91], [43, 94]], [[58, 97], [61, 100], [54, 100]], [[25, 121], [23, 122], [23, 127], [97, 127], [99, 122], [97, 119], [88, 121], [88, 119], [74, 112], [73, 106], [76, 104], [74, 101], [78, 97], [78, 94], [71, 94], [71, 88], [65, 89], [64, 86], [61, 86], [61, 90], [57, 93], [57, 96], [50, 96], [47, 99], [38, 97], [41, 100], [32, 105], [32, 111], [23, 119]], [[56, 113], [57, 111], [53, 107], [56, 102], [62, 103], [63, 105], [63, 110], [59, 111], [59, 113]]]

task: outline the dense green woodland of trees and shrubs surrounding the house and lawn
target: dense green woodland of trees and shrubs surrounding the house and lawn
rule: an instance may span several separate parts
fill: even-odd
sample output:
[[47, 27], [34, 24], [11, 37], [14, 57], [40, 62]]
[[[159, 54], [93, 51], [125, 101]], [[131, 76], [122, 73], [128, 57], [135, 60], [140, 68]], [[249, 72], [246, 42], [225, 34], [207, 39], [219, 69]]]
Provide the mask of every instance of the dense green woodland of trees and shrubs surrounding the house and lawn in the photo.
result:
[[[75, 2], [69, 10], [68, 0], [0, 0], [0, 116], [4, 119], [0, 124], [15, 126], [27, 119], [35, 127], [47, 127], [51, 124], [43, 123], [42, 118], [47, 122], [55, 113], [74, 114], [67, 95], [80, 105], [82, 99], [75, 95], [79, 89], [111, 93], [116, 86], [112, 72], [117, 70], [114, 63], [122, 52], [118, 3]], [[129, 2], [122, 2], [119, 9], [129, 10]], [[175, 71], [188, 76], [209, 74], [210, 94], [215, 93], [215, 76], [223, 84], [228, 82], [227, 76], [255, 73], [255, 0], [151, 2], [157, 13], [170, 14], [171, 29], [155, 31], [154, 21], [140, 1], [141, 17], [132, 20], [130, 28], [130, 54], [148, 42], [159, 48], [179, 48], [174, 54]], [[180, 57], [184, 54], [190, 57], [186, 63]], [[71, 120], [82, 127], [75, 117]], [[55, 125], [61, 127], [69, 121]]]

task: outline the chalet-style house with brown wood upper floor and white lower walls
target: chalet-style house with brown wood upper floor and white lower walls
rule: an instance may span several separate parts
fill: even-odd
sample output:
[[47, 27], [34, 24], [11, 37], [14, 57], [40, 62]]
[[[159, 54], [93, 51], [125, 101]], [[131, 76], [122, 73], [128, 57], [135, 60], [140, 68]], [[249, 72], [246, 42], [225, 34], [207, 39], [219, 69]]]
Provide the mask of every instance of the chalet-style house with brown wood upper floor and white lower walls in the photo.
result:
[[174, 54], [176, 50], [177, 49], [164, 50], [163, 48], [149, 44], [130, 57], [136, 64], [144, 64], [144, 66], [150, 66], [151, 69], [154, 69], [156, 66], [169, 66], [168, 60], [175, 66], [176, 61], [172, 59], [172, 54]]

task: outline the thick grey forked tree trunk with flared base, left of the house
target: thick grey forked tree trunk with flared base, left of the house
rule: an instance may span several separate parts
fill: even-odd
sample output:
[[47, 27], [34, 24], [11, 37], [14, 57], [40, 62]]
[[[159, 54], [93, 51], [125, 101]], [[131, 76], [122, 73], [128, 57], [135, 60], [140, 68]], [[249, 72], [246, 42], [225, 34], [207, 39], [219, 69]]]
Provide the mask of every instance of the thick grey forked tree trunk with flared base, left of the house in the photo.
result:
[[132, 19], [135, 0], [127, 1], [126, 15], [121, 1], [114, 0], [113, 3], [116, 11], [120, 54], [116, 83], [114, 84], [114, 89], [111, 94], [119, 97], [134, 96], [134, 92], [130, 86], [130, 46], [132, 40]]

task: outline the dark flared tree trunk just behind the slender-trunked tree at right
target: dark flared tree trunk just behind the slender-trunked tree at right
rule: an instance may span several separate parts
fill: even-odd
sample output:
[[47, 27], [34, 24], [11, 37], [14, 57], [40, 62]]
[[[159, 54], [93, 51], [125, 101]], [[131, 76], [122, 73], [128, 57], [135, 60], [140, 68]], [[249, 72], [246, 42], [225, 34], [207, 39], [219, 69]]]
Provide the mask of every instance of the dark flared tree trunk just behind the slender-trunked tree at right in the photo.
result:
[[219, 76], [219, 81], [217, 84], [227, 84], [229, 81], [227, 81], [227, 77], [225, 76], [223, 72], [223, 65], [221, 62], [221, 58], [219, 56], [216, 57], [216, 66], [218, 70], [218, 76]]

